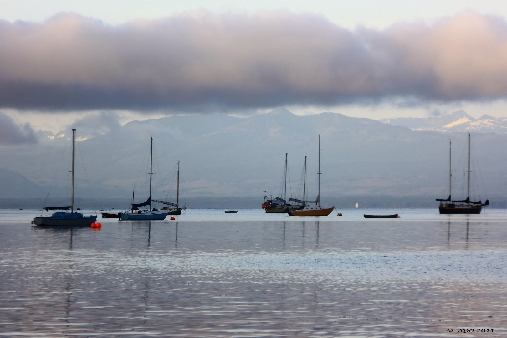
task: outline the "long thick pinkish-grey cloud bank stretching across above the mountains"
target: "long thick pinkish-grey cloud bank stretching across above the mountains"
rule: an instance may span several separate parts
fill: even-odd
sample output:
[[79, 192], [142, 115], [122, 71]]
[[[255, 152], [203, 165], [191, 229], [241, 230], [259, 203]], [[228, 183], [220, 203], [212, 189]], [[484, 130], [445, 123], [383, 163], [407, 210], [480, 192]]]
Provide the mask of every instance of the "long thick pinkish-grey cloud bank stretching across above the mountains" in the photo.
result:
[[218, 110], [507, 97], [507, 23], [467, 12], [347, 30], [321, 16], [0, 22], [0, 107]]

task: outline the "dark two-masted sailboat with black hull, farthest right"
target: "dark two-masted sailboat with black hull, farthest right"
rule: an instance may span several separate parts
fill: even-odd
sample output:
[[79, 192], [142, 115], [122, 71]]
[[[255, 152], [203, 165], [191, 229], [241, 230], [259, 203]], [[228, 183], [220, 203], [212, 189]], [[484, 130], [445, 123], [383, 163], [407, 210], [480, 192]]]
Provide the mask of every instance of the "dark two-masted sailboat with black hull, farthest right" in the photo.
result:
[[470, 201], [470, 134], [468, 134], [468, 169], [467, 169], [467, 190], [465, 200], [452, 201], [452, 163], [451, 163], [451, 140], [449, 140], [449, 197], [447, 199], [437, 199], [440, 201], [439, 211], [441, 214], [479, 214], [482, 207], [489, 205], [489, 200]]

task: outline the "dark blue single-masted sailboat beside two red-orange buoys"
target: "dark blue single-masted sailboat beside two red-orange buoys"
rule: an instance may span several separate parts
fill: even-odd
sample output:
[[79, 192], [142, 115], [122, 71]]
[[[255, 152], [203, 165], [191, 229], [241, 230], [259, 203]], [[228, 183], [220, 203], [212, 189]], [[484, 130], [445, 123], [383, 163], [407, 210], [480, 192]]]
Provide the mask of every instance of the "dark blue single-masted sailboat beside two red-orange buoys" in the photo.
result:
[[75, 163], [75, 153], [76, 153], [76, 129], [72, 130], [72, 182], [71, 182], [71, 197], [70, 197], [70, 205], [64, 207], [46, 207], [46, 211], [49, 210], [68, 210], [67, 211], [56, 211], [51, 216], [39, 216], [35, 217], [32, 220], [32, 224], [36, 226], [66, 226], [66, 227], [90, 227], [92, 223], [97, 220], [97, 216], [84, 216], [80, 211], [81, 209], [74, 210], [74, 163]]

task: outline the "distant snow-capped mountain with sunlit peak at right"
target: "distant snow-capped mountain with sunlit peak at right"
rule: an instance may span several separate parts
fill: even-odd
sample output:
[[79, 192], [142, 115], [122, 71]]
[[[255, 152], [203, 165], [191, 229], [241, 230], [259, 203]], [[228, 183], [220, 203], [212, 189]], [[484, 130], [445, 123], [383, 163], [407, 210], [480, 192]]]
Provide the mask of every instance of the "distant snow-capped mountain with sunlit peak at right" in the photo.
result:
[[440, 130], [452, 132], [507, 133], [507, 118], [495, 118], [483, 115], [479, 119], [458, 110], [444, 116], [424, 118], [392, 118], [380, 122], [396, 126], [409, 127], [413, 130]]

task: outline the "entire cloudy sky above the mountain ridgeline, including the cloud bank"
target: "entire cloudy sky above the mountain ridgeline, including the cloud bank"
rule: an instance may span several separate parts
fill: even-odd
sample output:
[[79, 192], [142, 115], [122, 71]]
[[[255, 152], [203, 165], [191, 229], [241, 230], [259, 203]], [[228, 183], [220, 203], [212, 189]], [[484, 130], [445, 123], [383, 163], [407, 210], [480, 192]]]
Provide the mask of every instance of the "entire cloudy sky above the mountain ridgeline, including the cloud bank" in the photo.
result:
[[506, 17], [500, 1], [2, 0], [0, 111], [26, 133], [104, 110], [503, 117]]

